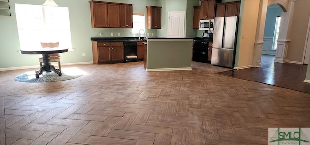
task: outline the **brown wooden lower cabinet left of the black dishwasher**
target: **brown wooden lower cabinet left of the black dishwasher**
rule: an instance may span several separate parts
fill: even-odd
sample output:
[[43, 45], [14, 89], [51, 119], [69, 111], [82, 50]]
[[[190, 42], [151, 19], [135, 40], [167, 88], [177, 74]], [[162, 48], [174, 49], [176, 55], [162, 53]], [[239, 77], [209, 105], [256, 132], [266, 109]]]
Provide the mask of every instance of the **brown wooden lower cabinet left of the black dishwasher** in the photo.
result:
[[92, 50], [94, 64], [123, 62], [123, 42], [92, 41]]

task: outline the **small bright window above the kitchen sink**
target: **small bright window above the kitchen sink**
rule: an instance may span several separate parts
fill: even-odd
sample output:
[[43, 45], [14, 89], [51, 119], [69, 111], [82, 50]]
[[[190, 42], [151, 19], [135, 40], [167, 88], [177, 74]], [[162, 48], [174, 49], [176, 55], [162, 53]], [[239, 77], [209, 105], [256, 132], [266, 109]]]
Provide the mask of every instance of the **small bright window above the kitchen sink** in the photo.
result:
[[132, 23], [133, 28], [131, 30], [131, 33], [133, 34], [139, 34], [140, 29], [145, 30], [145, 16], [144, 13], [138, 13], [134, 12], [132, 15]]

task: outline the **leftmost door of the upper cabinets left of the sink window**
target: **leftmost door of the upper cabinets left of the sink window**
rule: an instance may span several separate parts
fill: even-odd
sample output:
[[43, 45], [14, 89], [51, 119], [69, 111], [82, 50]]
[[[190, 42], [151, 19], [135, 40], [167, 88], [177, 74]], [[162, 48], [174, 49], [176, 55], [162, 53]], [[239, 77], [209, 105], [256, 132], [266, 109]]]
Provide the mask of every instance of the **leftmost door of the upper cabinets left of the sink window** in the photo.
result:
[[108, 27], [107, 4], [93, 3], [91, 5], [92, 27]]

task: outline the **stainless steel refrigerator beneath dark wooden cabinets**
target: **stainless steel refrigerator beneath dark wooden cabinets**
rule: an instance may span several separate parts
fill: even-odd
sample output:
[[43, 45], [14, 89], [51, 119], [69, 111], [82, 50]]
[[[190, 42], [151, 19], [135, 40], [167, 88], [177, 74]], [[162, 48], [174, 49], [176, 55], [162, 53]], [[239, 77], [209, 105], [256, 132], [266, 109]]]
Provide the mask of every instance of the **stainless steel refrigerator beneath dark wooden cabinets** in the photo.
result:
[[214, 18], [211, 64], [233, 68], [237, 26], [237, 16]]

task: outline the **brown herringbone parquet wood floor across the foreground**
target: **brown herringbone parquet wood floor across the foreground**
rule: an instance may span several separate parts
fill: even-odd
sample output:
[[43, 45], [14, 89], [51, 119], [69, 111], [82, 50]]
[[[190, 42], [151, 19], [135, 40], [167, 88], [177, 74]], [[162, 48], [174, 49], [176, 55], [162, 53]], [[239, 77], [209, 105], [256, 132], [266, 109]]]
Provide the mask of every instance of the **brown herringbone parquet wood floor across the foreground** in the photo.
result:
[[310, 127], [308, 93], [214, 74], [227, 68], [71, 67], [84, 75], [24, 83], [14, 77], [35, 69], [1, 72], [1, 145], [266, 145], [268, 127]]

